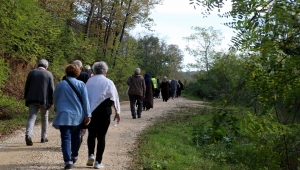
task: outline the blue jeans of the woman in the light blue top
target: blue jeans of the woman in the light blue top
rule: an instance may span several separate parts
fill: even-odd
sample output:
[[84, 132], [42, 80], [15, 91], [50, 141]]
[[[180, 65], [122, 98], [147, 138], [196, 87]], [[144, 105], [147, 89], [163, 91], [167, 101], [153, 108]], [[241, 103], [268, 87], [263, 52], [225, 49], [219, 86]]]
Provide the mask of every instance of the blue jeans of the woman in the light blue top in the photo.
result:
[[59, 126], [59, 130], [65, 164], [73, 164], [72, 158], [77, 159], [80, 147], [80, 126]]

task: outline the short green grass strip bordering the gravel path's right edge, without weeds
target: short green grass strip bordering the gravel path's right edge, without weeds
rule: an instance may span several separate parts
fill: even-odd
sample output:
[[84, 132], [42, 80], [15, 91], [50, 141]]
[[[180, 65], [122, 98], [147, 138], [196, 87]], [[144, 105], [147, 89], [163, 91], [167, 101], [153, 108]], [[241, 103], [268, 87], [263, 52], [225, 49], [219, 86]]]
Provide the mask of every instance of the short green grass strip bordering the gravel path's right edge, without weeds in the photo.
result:
[[199, 125], [208, 126], [207, 122], [212, 119], [212, 115], [206, 114], [209, 110], [184, 107], [157, 119], [139, 136], [136, 142], [138, 147], [132, 153], [132, 169], [246, 169], [241, 165], [228, 165], [207, 157], [207, 150], [203, 152], [195, 142], [195, 128]]

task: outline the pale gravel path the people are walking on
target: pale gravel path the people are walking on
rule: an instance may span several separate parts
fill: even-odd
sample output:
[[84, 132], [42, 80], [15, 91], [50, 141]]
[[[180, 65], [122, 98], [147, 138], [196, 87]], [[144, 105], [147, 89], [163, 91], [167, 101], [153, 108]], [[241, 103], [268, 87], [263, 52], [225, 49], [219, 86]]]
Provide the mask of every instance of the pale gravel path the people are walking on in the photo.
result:
[[[109, 126], [106, 135], [106, 148], [103, 155], [104, 168], [107, 170], [130, 169], [129, 151], [134, 147], [135, 139], [146, 126], [166, 111], [180, 105], [200, 105], [199, 101], [176, 98], [168, 102], [154, 99], [154, 108], [142, 112], [142, 118], [132, 119], [129, 102], [121, 103], [121, 122], [115, 127]], [[32, 136], [33, 146], [25, 144], [25, 128], [0, 141], [0, 170], [17, 169], [63, 169], [64, 162], [60, 148], [60, 133], [49, 125], [48, 143], [40, 143], [40, 126], [35, 126]], [[87, 134], [79, 150], [78, 161], [73, 169], [93, 169], [87, 167]]]

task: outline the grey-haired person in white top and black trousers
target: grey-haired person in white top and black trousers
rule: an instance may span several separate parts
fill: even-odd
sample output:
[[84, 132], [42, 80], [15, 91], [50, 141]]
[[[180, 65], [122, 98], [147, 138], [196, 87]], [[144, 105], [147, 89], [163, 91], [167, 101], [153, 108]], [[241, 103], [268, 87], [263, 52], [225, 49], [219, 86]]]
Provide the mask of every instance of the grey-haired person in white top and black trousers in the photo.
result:
[[[114, 121], [120, 122], [120, 101], [117, 88], [113, 81], [106, 77], [108, 66], [105, 62], [96, 62], [92, 66], [94, 76], [86, 83], [92, 111], [92, 120], [88, 126], [88, 161], [87, 166], [94, 169], [103, 168], [103, 152], [105, 136], [110, 125], [112, 106], [114, 106]], [[95, 146], [97, 139], [96, 158]]]

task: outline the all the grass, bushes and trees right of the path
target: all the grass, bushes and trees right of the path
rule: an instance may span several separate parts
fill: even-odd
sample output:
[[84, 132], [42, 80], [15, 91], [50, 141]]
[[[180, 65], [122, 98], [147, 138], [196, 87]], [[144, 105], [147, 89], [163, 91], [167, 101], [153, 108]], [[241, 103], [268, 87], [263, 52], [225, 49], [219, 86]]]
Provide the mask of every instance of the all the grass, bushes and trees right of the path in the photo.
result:
[[[222, 0], [191, 0], [203, 15]], [[147, 129], [133, 153], [141, 169], [298, 170], [300, 165], [299, 1], [239, 1], [220, 17], [236, 31], [229, 51], [212, 28], [194, 27], [184, 93], [209, 102], [181, 108]], [[217, 42], [214, 42], [217, 41]]]

